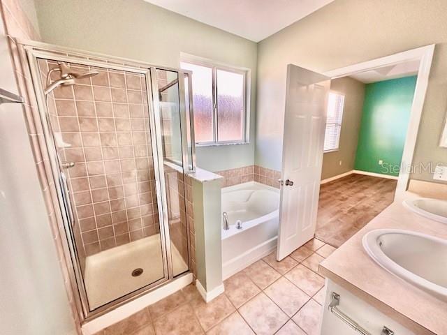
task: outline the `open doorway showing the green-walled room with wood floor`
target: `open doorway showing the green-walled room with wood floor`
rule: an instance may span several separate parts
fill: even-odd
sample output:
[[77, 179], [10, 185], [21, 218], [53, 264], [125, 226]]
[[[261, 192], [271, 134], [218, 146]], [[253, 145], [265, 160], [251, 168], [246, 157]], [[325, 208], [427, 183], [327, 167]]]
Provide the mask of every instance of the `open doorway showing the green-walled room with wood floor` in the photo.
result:
[[315, 237], [339, 247], [395, 198], [418, 60], [331, 80]]

